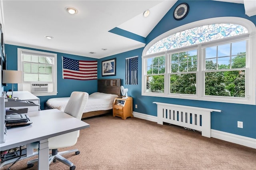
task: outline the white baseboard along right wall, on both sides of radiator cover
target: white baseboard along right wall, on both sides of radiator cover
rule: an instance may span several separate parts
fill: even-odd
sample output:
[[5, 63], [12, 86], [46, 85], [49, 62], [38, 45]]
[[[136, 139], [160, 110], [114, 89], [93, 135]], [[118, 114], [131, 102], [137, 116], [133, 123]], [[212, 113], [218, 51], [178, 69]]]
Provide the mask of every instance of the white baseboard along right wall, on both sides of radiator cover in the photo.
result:
[[[134, 117], [139, 119], [157, 122], [156, 116], [147, 115], [147, 114], [138, 113], [138, 112], [133, 112], [133, 115]], [[254, 138], [240, 136], [237, 134], [227, 133], [227, 132], [214, 130], [214, 129], [211, 129], [211, 137], [256, 149], [256, 139]]]

